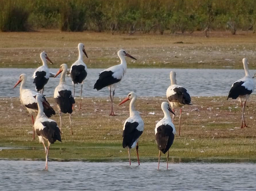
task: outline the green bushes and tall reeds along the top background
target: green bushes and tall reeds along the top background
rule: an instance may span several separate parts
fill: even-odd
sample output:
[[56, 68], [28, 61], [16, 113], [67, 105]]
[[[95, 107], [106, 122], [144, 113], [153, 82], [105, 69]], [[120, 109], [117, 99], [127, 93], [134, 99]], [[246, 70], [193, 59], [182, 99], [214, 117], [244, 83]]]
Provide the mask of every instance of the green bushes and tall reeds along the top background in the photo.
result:
[[1, 31], [256, 30], [256, 0], [0, 0]]

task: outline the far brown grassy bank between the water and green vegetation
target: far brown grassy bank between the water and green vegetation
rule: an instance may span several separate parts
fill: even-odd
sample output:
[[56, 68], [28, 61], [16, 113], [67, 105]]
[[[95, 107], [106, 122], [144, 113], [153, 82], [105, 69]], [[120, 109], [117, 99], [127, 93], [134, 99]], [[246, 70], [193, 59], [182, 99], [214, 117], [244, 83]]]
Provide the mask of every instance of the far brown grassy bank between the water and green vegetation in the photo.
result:
[[[256, 69], [256, 33], [238, 31], [202, 32], [193, 34], [127, 34], [96, 32], [0, 32], [0, 67], [36, 68], [42, 65], [40, 52], [46, 51], [58, 68], [62, 63], [71, 66], [78, 57], [77, 45], [83, 42], [89, 59], [88, 68], [106, 68], [119, 63], [117, 51], [126, 49], [137, 58], [127, 58], [129, 68], [221, 68], [242, 69], [247, 57], [250, 69]], [[51, 38], [49, 38], [51, 37]], [[228, 60], [226, 60], [228, 59]]]

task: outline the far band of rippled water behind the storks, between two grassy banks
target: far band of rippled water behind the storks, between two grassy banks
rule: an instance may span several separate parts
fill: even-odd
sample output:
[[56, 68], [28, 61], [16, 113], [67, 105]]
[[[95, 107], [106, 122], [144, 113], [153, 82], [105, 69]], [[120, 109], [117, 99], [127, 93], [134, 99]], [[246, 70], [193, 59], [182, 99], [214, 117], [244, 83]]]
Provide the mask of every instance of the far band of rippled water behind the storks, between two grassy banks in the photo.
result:
[[[88, 75], [83, 85], [84, 97], [108, 97], [109, 89], [100, 91], [93, 89], [98, 79], [98, 74], [104, 69], [88, 69]], [[236, 80], [244, 77], [244, 70], [229, 69], [156, 69], [139, 68], [127, 69], [127, 72], [115, 90], [115, 96], [126, 97], [131, 91], [137, 92], [142, 97], [166, 96], [166, 89], [170, 85], [169, 72], [177, 73], [177, 84], [184, 86], [191, 96], [227, 96], [231, 85]], [[35, 69], [1, 68], [0, 70], [0, 97], [18, 97], [19, 86], [12, 89], [22, 73], [28, 74], [27, 87], [35, 90], [32, 75]], [[50, 69], [56, 73], [58, 69]], [[251, 70], [253, 75], [255, 71]], [[72, 88], [70, 77], [66, 81]], [[59, 78], [50, 78], [45, 86], [44, 94], [53, 97]], [[80, 95], [80, 85], [76, 85], [76, 96]]]

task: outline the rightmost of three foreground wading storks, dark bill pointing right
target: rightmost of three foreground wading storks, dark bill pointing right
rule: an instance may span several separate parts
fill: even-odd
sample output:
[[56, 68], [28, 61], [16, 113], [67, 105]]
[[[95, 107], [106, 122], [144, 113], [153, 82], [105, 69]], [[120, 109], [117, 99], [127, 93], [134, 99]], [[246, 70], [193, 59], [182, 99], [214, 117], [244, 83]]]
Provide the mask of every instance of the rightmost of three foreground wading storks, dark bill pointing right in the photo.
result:
[[175, 127], [172, 123], [171, 116], [169, 111], [173, 114], [171, 107], [167, 102], [161, 104], [161, 108], [164, 112], [164, 118], [162, 118], [155, 128], [156, 143], [159, 149], [159, 158], [158, 158], [158, 168], [160, 163], [161, 151], [165, 154], [167, 152], [167, 169], [168, 169], [168, 159], [169, 159], [169, 148], [173, 144], [174, 135], [176, 133]]

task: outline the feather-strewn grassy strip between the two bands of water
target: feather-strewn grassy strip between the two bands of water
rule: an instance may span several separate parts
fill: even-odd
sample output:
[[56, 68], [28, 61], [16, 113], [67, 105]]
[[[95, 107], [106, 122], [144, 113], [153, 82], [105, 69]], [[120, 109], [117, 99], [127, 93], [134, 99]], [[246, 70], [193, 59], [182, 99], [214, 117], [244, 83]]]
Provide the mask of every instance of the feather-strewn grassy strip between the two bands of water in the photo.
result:
[[[51, 144], [49, 157], [59, 161], [126, 161], [127, 150], [122, 148], [122, 127], [129, 116], [128, 103], [114, 109], [117, 116], [109, 116], [109, 102], [106, 98], [84, 98], [83, 110], [75, 107], [72, 114], [74, 135], [70, 135], [68, 115], [63, 116], [63, 142]], [[48, 101], [57, 111], [53, 98]], [[145, 130], [139, 140], [141, 160], [158, 157], [154, 128], [163, 117], [160, 104], [165, 97], [139, 98], [135, 108], [141, 112]], [[192, 97], [193, 105], [183, 108], [181, 136], [175, 136], [170, 156], [174, 161], [189, 159], [256, 160], [255, 107], [256, 96], [251, 96], [246, 108], [246, 122], [251, 128], [240, 129], [239, 102], [225, 100], [225, 97]], [[32, 140], [31, 117], [18, 98], [0, 99], [0, 159], [44, 160], [42, 144], [38, 138]], [[13, 107], [10, 109], [10, 107]], [[191, 111], [197, 108], [198, 111]], [[149, 112], [155, 112], [154, 115]], [[178, 110], [176, 114], [179, 115]], [[15, 117], [14, 117], [15, 116]], [[52, 117], [59, 123], [59, 116]], [[178, 130], [178, 117], [175, 118]], [[131, 157], [136, 161], [136, 151]], [[163, 157], [163, 160], [165, 157]], [[177, 160], [177, 161], [179, 161]]]

